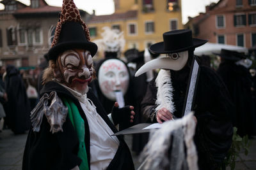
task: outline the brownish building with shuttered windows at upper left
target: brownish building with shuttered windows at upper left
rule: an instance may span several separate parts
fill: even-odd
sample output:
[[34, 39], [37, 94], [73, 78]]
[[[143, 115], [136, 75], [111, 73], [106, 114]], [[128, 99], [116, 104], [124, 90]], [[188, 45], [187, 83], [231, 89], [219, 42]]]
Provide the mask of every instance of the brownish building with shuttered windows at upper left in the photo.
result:
[[[61, 7], [44, 0], [31, 0], [26, 6], [15, 0], [3, 0], [0, 10], [0, 65], [35, 67], [51, 47]], [[83, 20], [88, 13], [80, 10]]]

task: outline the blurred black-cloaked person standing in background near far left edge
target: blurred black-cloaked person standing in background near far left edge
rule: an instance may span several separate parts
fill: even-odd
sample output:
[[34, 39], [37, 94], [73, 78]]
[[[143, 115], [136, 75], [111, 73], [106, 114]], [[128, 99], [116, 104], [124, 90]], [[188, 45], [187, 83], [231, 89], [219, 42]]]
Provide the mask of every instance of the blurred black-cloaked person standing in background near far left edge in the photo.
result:
[[4, 81], [8, 96], [8, 102], [6, 103], [6, 125], [14, 134], [22, 134], [30, 127], [30, 106], [24, 82], [20, 77], [19, 70], [12, 65], [6, 67]]

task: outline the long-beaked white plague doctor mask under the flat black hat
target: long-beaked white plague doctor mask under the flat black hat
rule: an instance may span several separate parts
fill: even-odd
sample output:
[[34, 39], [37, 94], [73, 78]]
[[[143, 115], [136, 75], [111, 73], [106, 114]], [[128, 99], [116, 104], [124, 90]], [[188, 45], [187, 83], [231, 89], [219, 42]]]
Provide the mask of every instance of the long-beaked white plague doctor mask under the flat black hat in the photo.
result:
[[182, 69], [188, 61], [188, 51], [179, 53], [166, 54], [166, 57], [161, 57], [159, 59], [150, 60], [138, 69], [135, 76], [140, 76], [141, 74], [152, 70], [152, 69], [172, 69], [178, 71]]

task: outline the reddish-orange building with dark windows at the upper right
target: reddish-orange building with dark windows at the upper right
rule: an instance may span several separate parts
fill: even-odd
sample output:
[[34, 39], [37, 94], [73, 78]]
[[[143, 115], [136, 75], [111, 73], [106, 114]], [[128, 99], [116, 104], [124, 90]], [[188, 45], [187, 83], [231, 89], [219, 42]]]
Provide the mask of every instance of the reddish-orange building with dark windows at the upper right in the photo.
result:
[[256, 46], [256, 1], [220, 0], [206, 6], [205, 13], [189, 18], [186, 28], [193, 29], [195, 38], [211, 43]]

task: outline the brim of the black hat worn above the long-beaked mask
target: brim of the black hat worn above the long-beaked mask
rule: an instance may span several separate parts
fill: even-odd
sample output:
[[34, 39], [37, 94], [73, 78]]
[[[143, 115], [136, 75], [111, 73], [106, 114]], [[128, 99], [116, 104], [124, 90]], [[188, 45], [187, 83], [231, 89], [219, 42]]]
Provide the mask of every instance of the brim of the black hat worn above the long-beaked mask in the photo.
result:
[[151, 45], [148, 49], [152, 53], [176, 53], [176, 52], [184, 52], [191, 48], [196, 48], [198, 46], [204, 45], [205, 43], [207, 43], [207, 40], [205, 40], [205, 39], [193, 38], [192, 46], [186, 46], [184, 48], [179, 48], [177, 50], [166, 51], [166, 50], [164, 50], [164, 42], [162, 41], [162, 42], [156, 43], [154, 45]]

